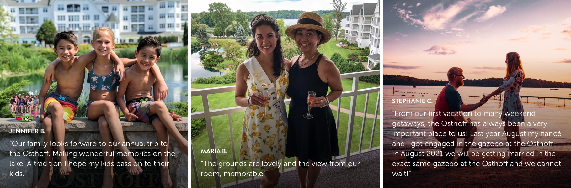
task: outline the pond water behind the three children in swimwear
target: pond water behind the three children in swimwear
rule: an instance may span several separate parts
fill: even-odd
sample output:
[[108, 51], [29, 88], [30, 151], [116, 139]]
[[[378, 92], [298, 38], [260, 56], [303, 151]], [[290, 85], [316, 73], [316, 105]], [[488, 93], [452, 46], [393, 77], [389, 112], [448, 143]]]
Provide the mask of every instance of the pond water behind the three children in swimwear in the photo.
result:
[[[164, 80], [167, 83], [168, 95], [164, 99], [166, 102], [186, 102], [188, 101], [188, 96], [182, 95], [182, 93], [188, 92], [188, 64], [185, 63], [175, 63], [160, 61], [157, 63], [160, 69], [160, 73], [163, 75]], [[87, 75], [85, 76], [87, 79]], [[19, 83], [22, 80], [29, 80], [30, 83], [27, 84], [23, 90], [31, 91], [34, 93], [39, 93], [43, 84], [43, 73], [29, 74], [24, 76], [13, 76], [13, 77], [0, 77], [0, 88], [7, 88], [12, 84]], [[83, 82], [83, 96], [89, 96], [89, 84], [85, 81]]]

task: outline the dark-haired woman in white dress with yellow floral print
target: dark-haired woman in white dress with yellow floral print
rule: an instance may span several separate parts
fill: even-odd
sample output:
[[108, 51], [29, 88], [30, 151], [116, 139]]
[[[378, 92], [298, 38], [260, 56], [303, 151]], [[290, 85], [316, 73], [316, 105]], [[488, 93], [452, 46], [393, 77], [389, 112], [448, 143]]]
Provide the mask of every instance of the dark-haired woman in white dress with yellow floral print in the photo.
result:
[[[248, 107], [242, 126], [240, 160], [271, 163], [286, 158], [287, 114], [283, 100], [289, 83], [289, 60], [283, 58], [280, 28], [274, 18], [260, 14], [250, 26], [254, 40], [246, 54], [251, 58], [236, 70], [234, 100], [236, 105]], [[258, 166], [264, 171], [260, 187], [278, 185], [278, 167]]]

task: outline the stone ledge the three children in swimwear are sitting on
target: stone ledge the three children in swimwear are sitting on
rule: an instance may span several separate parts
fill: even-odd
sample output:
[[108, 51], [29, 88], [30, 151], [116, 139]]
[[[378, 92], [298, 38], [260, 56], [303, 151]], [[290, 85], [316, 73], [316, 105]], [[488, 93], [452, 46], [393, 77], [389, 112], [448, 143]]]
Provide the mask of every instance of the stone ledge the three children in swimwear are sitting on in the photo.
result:
[[[155, 128], [144, 122], [128, 122], [126, 118], [121, 117], [121, 124], [123, 126], [123, 133], [126, 142], [146, 142], [154, 141], [156, 142], [156, 132]], [[183, 117], [183, 121], [175, 121], [176, 128], [179, 132], [188, 140], [188, 117]], [[10, 129], [41, 129], [41, 122], [38, 118], [35, 121], [21, 122], [15, 120], [15, 118], [0, 118], [0, 187], [33, 187], [37, 183], [39, 178], [38, 167], [37, 166], [27, 166], [26, 164], [31, 161], [38, 161], [38, 157], [26, 157], [26, 156], [10, 156], [10, 151], [13, 152], [24, 152], [33, 150], [43, 150], [43, 146], [13, 146], [10, 141], [18, 142], [41, 142], [43, 141], [42, 133], [28, 133], [28, 134], [11, 134]], [[99, 125], [97, 121], [88, 120], [86, 117], [74, 118], [71, 122], [65, 123], [65, 142], [94, 142], [100, 141], [101, 136], [99, 134]], [[169, 170], [171, 174], [173, 187], [188, 187], [188, 157], [179, 152], [176, 141], [169, 134], [169, 152], [175, 152], [174, 157], [169, 157]], [[128, 147], [132, 149], [156, 149], [153, 146], [132, 146]], [[101, 147], [98, 146], [66, 146], [66, 150], [74, 149], [96, 149], [100, 150]], [[115, 147], [115, 150], [118, 150]], [[68, 157], [69, 158], [69, 157]], [[24, 166], [10, 166], [10, 161], [23, 162]], [[43, 162], [43, 161], [38, 161]], [[87, 161], [85, 161], [87, 162]], [[117, 162], [117, 161], [115, 161]], [[138, 161], [139, 162], [139, 161]], [[76, 169], [77, 167], [72, 167]], [[125, 168], [125, 167], [114, 167]], [[21, 171], [22, 176], [10, 176], [10, 171]], [[145, 173], [143, 171], [143, 173]], [[58, 167], [54, 167], [54, 174], [59, 175]], [[115, 174], [117, 177], [118, 174]], [[61, 175], [60, 175], [61, 176]], [[70, 174], [71, 176], [71, 174]], [[30, 178], [32, 177], [32, 178]], [[150, 175], [152, 178], [153, 176]], [[156, 174], [155, 174], [156, 180]], [[160, 185], [160, 178], [159, 185]], [[91, 180], [93, 181], [93, 179]], [[139, 177], [136, 177], [136, 181], [139, 181]], [[152, 179], [151, 179], [152, 181]], [[138, 183], [138, 182], [135, 182]], [[74, 185], [70, 185], [74, 187]], [[76, 185], [77, 186], [77, 185]], [[121, 186], [121, 185], [118, 185]], [[123, 185], [124, 186], [124, 185]], [[134, 186], [134, 185], [133, 185]], [[156, 185], [155, 183], [155, 186]], [[78, 186], [79, 187], [79, 186]], [[85, 187], [89, 187], [86, 186]]]

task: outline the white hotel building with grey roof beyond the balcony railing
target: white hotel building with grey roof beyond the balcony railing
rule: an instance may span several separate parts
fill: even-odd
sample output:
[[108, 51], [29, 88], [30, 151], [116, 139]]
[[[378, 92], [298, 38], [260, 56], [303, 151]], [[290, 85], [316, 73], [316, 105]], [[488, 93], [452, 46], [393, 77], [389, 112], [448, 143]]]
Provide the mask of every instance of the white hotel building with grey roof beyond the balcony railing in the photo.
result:
[[367, 68], [371, 70], [380, 57], [380, 1], [353, 5], [345, 26], [345, 40], [356, 43], [358, 47], [369, 47], [371, 53]]

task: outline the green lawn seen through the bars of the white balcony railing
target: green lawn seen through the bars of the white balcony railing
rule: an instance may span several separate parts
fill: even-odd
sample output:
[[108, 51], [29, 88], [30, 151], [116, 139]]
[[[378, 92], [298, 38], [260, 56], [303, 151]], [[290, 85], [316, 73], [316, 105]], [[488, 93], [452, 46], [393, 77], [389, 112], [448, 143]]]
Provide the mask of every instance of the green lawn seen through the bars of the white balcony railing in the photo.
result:
[[[232, 103], [233, 104], [233, 103]], [[288, 109], [288, 108], [286, 108]], [[333, 113], [337, 113], [333, 111]], [[240, 162], [240, 136], [242, 134], [242, 120], [243, 120], [244, 113], [234, 113], [231, 115], [232, 119], [232, 136], [234, 137], [234, 149], [236, 154], [236, 162]], [[348, 115], [341, 113], [340, 114], [340, 121], [339, 121], [339, 128], [337, 129], [337, 141], [339, 142], [339, 154], [343, 155], [345, 153], [345, 144], [347, 140], [347, 124], [348, 124]], [[353, 134], [352, 134], [352, 141], [351, 141], [351, 152], [357, 152], [359, 150], [359, 138], [361, 134], [361, 122], [363, 121], [362, 117], [355, 117], [355, 122], [353, 124]], [[369, 142], [371, 141], [371, 132], [372, 132], [372, 118], [367, 118], [365, 122], [365, 130], [363, 134], [363, 145], [361, 149], [368, 149]], [[226, 149], [227, 153], [220, 153], [217, 154], [216, 157], [218, 158], [218, 162], [234, 162], [234, 157], [232, 155], [232, 140], [230, 139], [230, 124], [228, 124], [228, 115], [223, 116], [215, 116], [212, 117], [212, 130], [214, 131], [214, 141], [216, 145], [216, 149]], [[373, 137], [373, 148], [379, 146], [379, 133], [380, 133], [380, 120], [377, 120], [376, 127], [375, 127], [375, 136]], [[202, 187], [212, 187], [215, 186], [214, 184], [214, 177], [207, 177], [202, 176], [200, 173], [203, 172], [212, 172], [214, 171], [212, 166], [205, 166], [204, 162], [200, 161], [211, 161], [211, 154], [209, 153], [200, 153], [201, 149], [210, 149], [210, 144], [208, 143], [208, 134], [204, 130], [202, 134], [192, 140], [192, 148], [194, 149], [195, 160], [196, 160], [196, 169], [198, 170], [199, 174], [199, 181], [200, 186]], [[281, 161], [280, 161], [281, 162]], [[284, 162], [295, 162], [295, 158], [286, 158]], [[285, 166], [286, 168], [292, 166]], [[192, 170], [192, 168], [191, 168]], [[249, 172], [251, 168], [249, 166], [238, 166], [239, 172]], [[259, 171], [259, 169], [254, 169]], [[224, 176], [224, 172], [234, 172], [233, 166], [224, 166], [219, 168], [220, 177], [222, 184], [230, 183], [235, 181], [234, 177]], [[191, 171], [191, 174], [194, 174]], [[193, 175], [194, 180], [194, 175]], [[249, 177], [238, 177], [238, 179], [246, 179]], [[193, 186], [196, 186], [193, 184]]]

